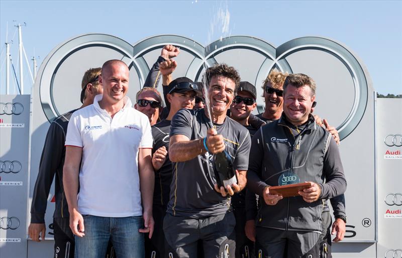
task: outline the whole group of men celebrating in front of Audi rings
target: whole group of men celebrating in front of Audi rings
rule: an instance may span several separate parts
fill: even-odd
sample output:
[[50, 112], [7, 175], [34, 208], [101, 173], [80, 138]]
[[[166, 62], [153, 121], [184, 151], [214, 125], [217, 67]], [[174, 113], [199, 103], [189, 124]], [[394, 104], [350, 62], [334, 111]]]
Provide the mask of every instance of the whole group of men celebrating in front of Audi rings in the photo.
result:
[[[272, 70], [254, 116], [256, 88], [234, 67], [173, 79], [179, 53], [162, 49], [134, 105], [124, 62], [85, 72], [82, 106], [49, 127], [30, 237], [45, 237], [55, 176], [54, 257], [331, 257], [346, 179], [336, 129], [312, 114], [314, 80]], [[226, 188], [212, 165], [224, 150], [237, 177]], [[297, 196], [269, 191], [300, 182]]]

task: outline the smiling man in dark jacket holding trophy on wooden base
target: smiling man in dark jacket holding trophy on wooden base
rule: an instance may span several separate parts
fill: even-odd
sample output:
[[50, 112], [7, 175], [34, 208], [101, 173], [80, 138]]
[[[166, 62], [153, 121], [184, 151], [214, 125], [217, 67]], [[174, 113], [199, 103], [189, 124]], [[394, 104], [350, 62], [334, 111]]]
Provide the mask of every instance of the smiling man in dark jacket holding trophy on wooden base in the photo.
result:
[[[283, 257], [287, 246], [287, 257], [317, 257], [326, 230], [317, 213], [323, 200], [346, 189], [338, 146], [311, 115], [315, 89], [304, 74], [287, 76], [280, 119], [261, 127], [253, 138], [248, 179], [249, 189], [263, 197], [256, 230], [262, 256]], [[269, 193], [269, 186], [306, 181], [311, 186], [299, 191], [300, 196]]]

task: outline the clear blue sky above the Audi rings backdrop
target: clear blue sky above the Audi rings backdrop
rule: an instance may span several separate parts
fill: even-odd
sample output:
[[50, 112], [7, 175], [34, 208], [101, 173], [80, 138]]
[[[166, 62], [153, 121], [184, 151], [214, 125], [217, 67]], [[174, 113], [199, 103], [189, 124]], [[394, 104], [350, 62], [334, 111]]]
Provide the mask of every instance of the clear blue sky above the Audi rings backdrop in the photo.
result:
[[0, 1], [2, 92], [7, 22], [9, 40], [15, 35], [17, 66], [13, 20], [28, 25], [23, 28], [27, 56], [35, 51], [44, 59], [59, 43], [85, 33], [111, 34], [130, 43], [176, 34], [206, 44], [220, 7], [230, 12], [231, 35], [258, 37], [274, 46], [305, 36], [337, 40], [360, 57], [376, 91], [402, 94], [401, 1]]

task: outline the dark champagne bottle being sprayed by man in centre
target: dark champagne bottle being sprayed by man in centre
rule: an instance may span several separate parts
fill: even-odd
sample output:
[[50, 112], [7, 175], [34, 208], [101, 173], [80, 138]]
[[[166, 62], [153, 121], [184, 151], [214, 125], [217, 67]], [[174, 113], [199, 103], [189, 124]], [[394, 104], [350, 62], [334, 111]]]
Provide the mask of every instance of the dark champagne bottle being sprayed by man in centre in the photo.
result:
[[213, 166], [218, 187], [226, 189], [227, 185], [238, 182], [233, 159], [226, 150], [214, 154]]

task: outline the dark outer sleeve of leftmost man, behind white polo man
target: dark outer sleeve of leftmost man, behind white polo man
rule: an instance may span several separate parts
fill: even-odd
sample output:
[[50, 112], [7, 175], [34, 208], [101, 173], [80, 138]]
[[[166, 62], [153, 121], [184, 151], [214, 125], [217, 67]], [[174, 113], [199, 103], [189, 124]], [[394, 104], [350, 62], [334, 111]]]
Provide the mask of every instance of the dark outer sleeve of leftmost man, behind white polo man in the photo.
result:
[[50, 124], [39, 164], [31, 205], [31, 223], [45, 223], [47, 198], [57, 168], [63, 162], [64, 132], [56, 122]]

